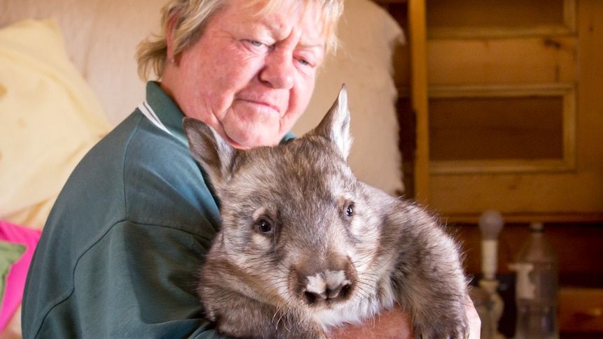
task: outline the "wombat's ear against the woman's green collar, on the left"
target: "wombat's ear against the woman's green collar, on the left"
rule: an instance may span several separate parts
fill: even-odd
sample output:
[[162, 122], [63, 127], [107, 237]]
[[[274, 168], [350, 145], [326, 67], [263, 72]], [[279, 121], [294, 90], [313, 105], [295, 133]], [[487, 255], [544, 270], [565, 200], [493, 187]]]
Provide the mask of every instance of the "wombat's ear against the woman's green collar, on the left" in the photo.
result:
[[208, 173], [214, 187], [219, 187], [230, 178], [228, 168], [236, 150], [201, 120], [184, 117], [182, 123], [192, 157]]

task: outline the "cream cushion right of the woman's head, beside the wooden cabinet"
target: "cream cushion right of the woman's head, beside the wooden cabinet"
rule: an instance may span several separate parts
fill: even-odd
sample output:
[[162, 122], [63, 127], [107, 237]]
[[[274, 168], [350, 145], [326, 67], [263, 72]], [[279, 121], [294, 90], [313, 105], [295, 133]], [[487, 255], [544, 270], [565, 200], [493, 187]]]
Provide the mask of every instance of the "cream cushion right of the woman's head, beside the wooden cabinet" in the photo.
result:
[[311, 102], [293, 132], [315, 127], [345, 82], [354, 138], [348, 164], [359, 180], [399, 194], [404, 185], [392, 59], [404, 43], [402, 28], [376, 3], [355, 0], [346, 1], [337, 31], [341, 45], [320, 69]]

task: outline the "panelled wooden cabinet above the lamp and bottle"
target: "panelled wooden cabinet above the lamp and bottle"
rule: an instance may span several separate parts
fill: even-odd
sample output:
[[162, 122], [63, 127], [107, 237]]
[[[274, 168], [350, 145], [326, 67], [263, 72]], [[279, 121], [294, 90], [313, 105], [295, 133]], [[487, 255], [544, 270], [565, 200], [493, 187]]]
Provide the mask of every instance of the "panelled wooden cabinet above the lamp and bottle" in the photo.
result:
[[451, 222], [603, 220], [603, 1], [378, 2], [409, 40], [418, 201]]

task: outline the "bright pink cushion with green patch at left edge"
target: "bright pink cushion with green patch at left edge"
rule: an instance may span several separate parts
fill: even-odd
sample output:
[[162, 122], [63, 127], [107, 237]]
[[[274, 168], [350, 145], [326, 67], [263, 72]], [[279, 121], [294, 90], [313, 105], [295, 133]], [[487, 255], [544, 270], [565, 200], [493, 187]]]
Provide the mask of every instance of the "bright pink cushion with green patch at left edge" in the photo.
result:
[[3, 290], [0, 332], [20, 306], [25, 278], [41, 231], [0, 220], [0, 259]]

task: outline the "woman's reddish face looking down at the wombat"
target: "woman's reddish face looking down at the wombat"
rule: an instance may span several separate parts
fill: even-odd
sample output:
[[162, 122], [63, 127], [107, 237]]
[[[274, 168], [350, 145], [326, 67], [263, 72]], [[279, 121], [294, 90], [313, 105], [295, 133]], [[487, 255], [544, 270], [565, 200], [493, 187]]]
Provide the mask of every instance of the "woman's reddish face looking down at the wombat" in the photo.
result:
[[234, 147], [276, 145], [312, 95], [326, 43], [319, 9], [285, 2], [295, 4], [257, 15], [262, 3], [229, 1], [166, 65], [162, 87], [180, 109]]

